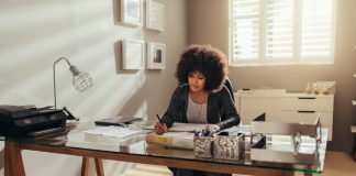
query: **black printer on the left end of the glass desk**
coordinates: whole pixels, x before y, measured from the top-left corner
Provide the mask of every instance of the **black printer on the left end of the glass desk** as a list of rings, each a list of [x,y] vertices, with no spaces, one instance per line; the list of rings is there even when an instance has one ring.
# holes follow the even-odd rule
[[[67,118],[63,109],[0,106],[0,136],[34,136],[64,131]]]

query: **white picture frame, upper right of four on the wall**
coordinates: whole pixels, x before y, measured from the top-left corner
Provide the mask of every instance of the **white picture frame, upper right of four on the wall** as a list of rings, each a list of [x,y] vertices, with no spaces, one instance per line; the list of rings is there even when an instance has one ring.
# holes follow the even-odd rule
[[[165,6],[155,0],[146,1],[146,28],[165,31]]]

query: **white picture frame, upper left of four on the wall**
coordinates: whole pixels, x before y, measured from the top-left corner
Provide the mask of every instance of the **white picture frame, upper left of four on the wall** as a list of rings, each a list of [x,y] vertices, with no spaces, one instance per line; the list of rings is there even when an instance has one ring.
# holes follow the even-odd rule
[[[121,22],[143,25],[143,0],[121,0]]]

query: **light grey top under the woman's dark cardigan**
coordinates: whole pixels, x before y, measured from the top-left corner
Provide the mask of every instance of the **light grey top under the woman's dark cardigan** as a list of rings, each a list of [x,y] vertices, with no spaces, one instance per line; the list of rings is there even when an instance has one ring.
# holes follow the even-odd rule
[[[189,123],[208,123],[207,101],[204,103],[196,103],[189,96],[187,118]]]

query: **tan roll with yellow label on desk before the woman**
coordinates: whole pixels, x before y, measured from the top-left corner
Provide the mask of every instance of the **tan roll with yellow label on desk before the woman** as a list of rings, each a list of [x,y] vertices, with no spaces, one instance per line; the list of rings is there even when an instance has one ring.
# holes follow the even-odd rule
[[[155,132],[148,133],[145,140],[148,144],[159,144],[164,146],[181,147],[192,150],[194,133],[190,132],[166,132],[162,135]]]

